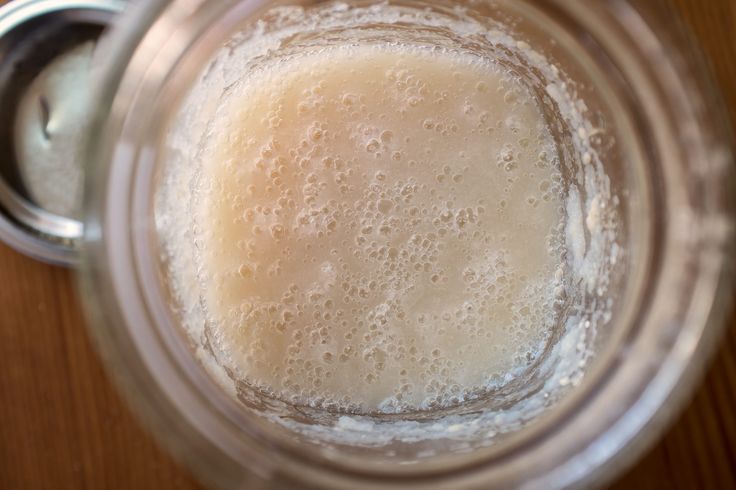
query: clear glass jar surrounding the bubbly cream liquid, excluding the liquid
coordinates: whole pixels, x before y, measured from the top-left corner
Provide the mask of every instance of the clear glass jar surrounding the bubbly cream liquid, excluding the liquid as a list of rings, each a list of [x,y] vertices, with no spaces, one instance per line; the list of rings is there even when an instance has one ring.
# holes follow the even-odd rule
[[[107,40],[82,284],[92,333],[151,430],[205,482],[228,488],[559,488],[602,484],[630,464],[691,393],[731,295],[726,119],[697,53],[658,6],[134,6]],[[396,15],[376,17],[387,9]],[[210,364],[183,325],[191,305],[171,288],[156,197],[182,151],[176,135],[201,136],[215,117],[217,103],[191,94],[218,72],[221,84],[204,92],[217,102],[242,75],[228,72],[229,57],[264,39],[273,43],[241,66],[390,39],[490,53],[528,82],[557,128],[556,158],[565,192],[579,193],[586,250],[605,259],[605,280],[580,286],[564,306],[545,351],[551,367],[540,361],[472,403],[359,416],[269,399]],[[593,211],[611,213],[600,240]]]

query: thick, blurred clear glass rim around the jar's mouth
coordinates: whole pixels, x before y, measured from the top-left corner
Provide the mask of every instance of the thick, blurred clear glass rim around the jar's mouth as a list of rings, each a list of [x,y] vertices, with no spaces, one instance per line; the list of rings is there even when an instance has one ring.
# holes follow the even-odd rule
[[[666,56],[652,64],[653,54],[664,49],[661,41],[620,2],[574,9],[562,2],[509,6],[524,21],[544,26],[537,37],[551,36],[557,49],[572,54],[574,63],[565,73],[585,80],[576,87],[581,97],[601,99],[593,111],[596,123],[620,139],[609,150],[621,165],[606,168],[623,182],[614,189],[621,192],[625,215],[625,230],[618,231],[626,237],[618,256],[626,263],[612,279],[623,285],[612,300],[617,310],[609,313],[611,323],[603,324],[610,331],[590,341],[595,360],[579,386],[552,409],[491,447],[390,465],[386,458],[371,460],[324,440],[307,449],[294,433],[274,430],[268,421],[245,413],[192,362],[191,340],[181,335],[172,315],[159,256],[152,252],[161,137],[152,129],[166,127],[168,117],[155,109],[178,107],[185,84],[177,80],[193,79],[202,60],[210,59],[212,46],[221,41],[216,31],[232,32],[268,5],[244,2],[225,13],[222,6],[188,12],[173,4],[158,19],[148,18],[148,33],[127,39],[127,69],[111,76],[108,120],[100,138],[93,138],[105,165],[88,187],[83,277],[99,300],[91,308],[98,308],[98,319],[108,319],[96,322],[93,333],[113,362],[124,367],[124,382],[137,392],[133,402],[144,406],[154,430],[168,432],[164,442],[179,445],[187,459],[201,458],[202,466],[210,466],[202,469],[205,478],[220,484],[251,474],[326,487],[452,480],[473,488],[489,482],[561,487],[590,481],[604,464],[620,460],[640,431],[646,434],[639,440],[651,440],[651,420],[661,419],[666,400],[685,396],[725,310],[732,208],[724,176],[730,173],[730,153],[726,140],[703,119],[702,101],[696,100],[703,93],[691,85],[697,80]],[[624,19],[640,23],[624,24]],[[647,39],[648,50],[640,49],[634,36]],[[151,66],[157,70],[148,70]],[[677,97],[680,103],[671,104]],[[582,158],[579,149],[571,152]],[[705,170],[695,168],[702,162],[707,162]],[[703,188],[709,192],[698,192]],[[112,332],[113,324],[124,328]],[[273,400],[256,401],[274,409]],[[311,415],[304,409],[289,414],[299,416],[308,420]]]

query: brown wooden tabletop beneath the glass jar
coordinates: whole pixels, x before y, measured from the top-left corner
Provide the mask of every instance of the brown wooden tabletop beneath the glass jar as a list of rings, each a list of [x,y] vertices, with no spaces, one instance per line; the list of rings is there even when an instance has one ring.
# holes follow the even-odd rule
[[[736,120],[736,0],[673,0]],[[2,3],[2,1],[0,1]],[[0,245],[0,489],[194,489],[106,378],[71,276]],[[736,320],[707,378],[616,489],[736,488]]]

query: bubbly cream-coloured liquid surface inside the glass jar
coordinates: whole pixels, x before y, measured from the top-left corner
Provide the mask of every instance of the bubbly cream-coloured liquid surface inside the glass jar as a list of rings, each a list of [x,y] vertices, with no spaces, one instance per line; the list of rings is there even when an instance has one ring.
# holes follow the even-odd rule
[[[560,285],[559,174],[491,62],[335,48],[233,89],[194,220],[218,361],[282,399],[430,408],[539,355]]]

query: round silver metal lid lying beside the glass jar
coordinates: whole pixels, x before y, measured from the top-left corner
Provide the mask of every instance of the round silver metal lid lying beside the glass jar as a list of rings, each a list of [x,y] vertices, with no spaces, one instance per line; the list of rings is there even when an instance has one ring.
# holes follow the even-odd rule
[[[23,146],[19,141],[25,140],[17,136],[24,100],[31,97],[26,97],[26,92],[60,55],[85,42],[96,41],[124,5],[122,0],[14,0],[0,7],[0,113],[5,116],[0,118],[0,240],[38,260],[72,266],[79,259],[83,234],[80,213],[71,212],[69,205],[62,206],[62,212],[49,209],[48,201],[39,199],[39,192],[51,189],[62,197],[64,193],[75,192],[64,186],[78,187],[76,181],[72,186],[54,172],[44,172],[53,165],[72,165],[82,172],[81,161],[77,161],[81,159],[80,152],[68,148],[58,151],[58,147],[66,144],[68,136],[77,128],[79,132],[86,128],[56,118],[57,126],[62,128],[57,136],[60,143],[53,146],[44,126],[43,134],[48,141],[39,145],[48,143],[43,147],[48,155],[33,155],[33,147],[30,149],[37,160],[46,159],[43,167],[35,170],[36,181],[46,181],[41,182],[45,185],[35,185],[32,189],[23,169],[28,162],[19,156],[24,153],[28,156],[29,150],[19,148]],[[62,102],[64,97],[61,96]],[[38,97],[38,118],[48,123],[54,117],[53,102],[49,103],[43,94]],[[74,161],[64,161],[70,159]]]

